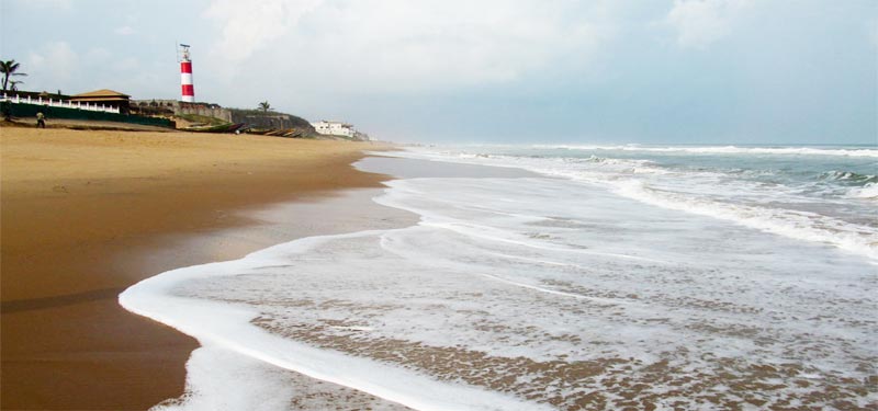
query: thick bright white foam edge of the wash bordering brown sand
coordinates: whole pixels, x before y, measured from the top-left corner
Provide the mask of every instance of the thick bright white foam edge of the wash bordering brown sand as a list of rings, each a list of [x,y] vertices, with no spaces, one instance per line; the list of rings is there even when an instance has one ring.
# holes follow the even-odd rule
[[[476,387],[440,383],[426,375],[372,359],[313,347],[271,334],[250,323],[259,312],[240,305],[171,295],[181,283],[234,276],[247,267],[266,266],[273,253],[297,253],[331,239],[379,236],[393,230],[313,237],[275,246],[244,259],[173,270],[144,279],[119,296],[134,313],[151,318],[199,340],[308,377],[349,387],[416,410],[539,410],[550,409]],[[251,260],[263,259],[255,263]]]

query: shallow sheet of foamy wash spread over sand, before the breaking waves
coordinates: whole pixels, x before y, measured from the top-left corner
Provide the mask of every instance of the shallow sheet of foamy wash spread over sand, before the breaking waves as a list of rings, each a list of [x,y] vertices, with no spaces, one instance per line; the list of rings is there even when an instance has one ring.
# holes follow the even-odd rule
[[[415,409],[878,398],[867,259],[575,180],[406,179],[375,201],[420,221],[181,269],[120,301],[209,350]]]

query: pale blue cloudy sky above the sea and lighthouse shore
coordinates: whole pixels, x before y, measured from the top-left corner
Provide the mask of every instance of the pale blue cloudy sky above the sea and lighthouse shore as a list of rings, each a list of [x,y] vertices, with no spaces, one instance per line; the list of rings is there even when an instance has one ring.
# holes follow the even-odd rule
[[[878,0],[0,0],[22,90],[415,142],[878,145]]]

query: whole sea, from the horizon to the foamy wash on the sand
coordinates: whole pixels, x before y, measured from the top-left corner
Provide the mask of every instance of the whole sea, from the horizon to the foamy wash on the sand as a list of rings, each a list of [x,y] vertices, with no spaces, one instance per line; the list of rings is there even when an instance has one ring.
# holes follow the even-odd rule
[[[878,409],[875,147],[382,156],[358,167],[420,164],[373,199],[417,225],[120,296],[204,346],[159,409],[299,409],[272,369],[398,404],[375,409]],[[527,173],[417,171],[439,163]]]

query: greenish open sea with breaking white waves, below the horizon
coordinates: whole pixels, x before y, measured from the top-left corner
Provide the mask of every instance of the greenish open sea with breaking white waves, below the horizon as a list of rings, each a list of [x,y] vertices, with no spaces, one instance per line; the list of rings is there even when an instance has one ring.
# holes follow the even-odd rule
[[[875,175],[831,170],[813,172],[813,179],[810,181],[784,181],[784,178],[773,170],[777,167],[797,167],[803,163],[801,160],[793,162],[783,160],[788,155],[870,158],[875,157],[873,155],[878,153],[878,150],[733,146],[539,147],[549,151],[522,149],[510,151],[485,147],[480,149],[479,153],[473,153],[469,149],[410,148],[385,155],[430,161],[521,168],[548,176],[597,184],[619,195],[660,207],[724,219],[798,240],[832,244],[878,261],[878,209],[875,208],[874,202],[878,195],[876,195]],[[554,151],[559,148],[583,152],[581,157],[565,157],[564,153]],[[650,158],[650,153],[654,152],[661,153],[660,157]],[[674,157],[664,157],[667,152]],[[637,153],[643,153],[642,157],[648,158],[638,158]],[[687,157],[690,153],[711,156],[699,158],[693,165],[686,165],[685,161],[690,158]],[[762,155],[775,157],[765,158]],[[780,156],[781,160],[777,160],[776,156]],[[825,161],[822,160],[824,158],[818,157],[818,160],[812,161]],[[677,165],[666,167],[658,161],[673,162]],[[679,164],[680,162],[684,163]],[[714,162],[733,165],[714,167]],[[860,167],[874,169],[869,163]],[[796,170],[788,172],[797,178],[807,173]],[[849,203],[847,199],[867,203]],[[871,224],[868,222],[869,219]]]

